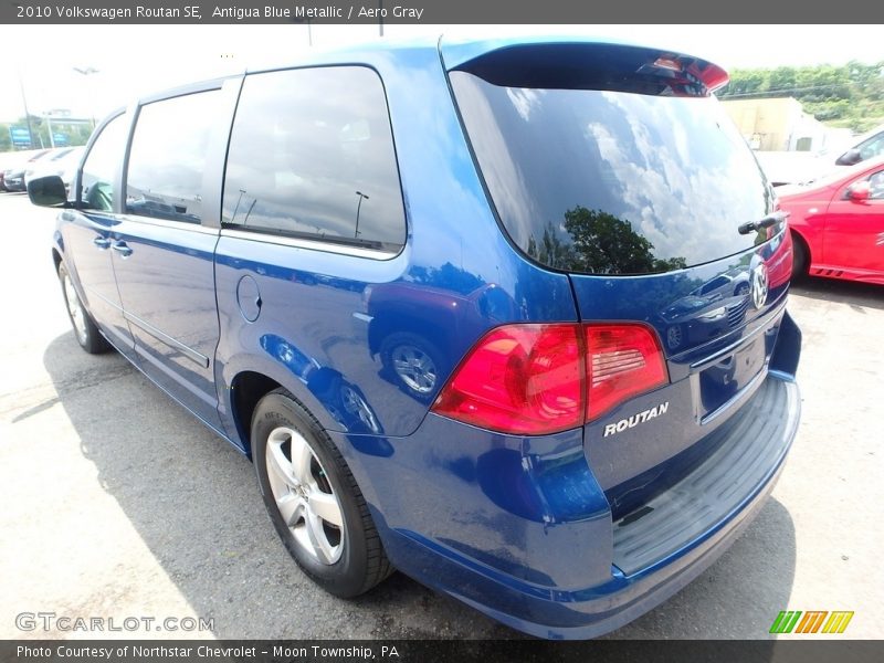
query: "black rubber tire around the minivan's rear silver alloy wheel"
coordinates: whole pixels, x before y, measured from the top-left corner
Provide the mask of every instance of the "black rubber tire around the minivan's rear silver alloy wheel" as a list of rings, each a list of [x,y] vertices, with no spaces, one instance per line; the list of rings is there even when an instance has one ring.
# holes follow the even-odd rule
[[[283,519],[277,506],[269,475],[267,454],[272,444],[271,435],[278,435],[278,431],[286,430],[298,434],[299,443],[306,442],[314,460],[318,462],[317,465],[312,465],[316,467],[317,481],[323,482],[317,487],[337,497],[343,527],[339,528],[339,558],[332,562],[322,561],[305,549],[294,529]],[[270,519],[288,552],[314,582],[327,592],[347,599],[365,593],[393,571],[366,501],[347,463],[319,423],[285,389],[271,391],[259,401],[252,417],[251,439],[257,483]],[[290,442],[290,454],[291,444],[293,443]],[[284,449],[284,444],[281,449]],[[270,453],[273,454],[273,450]],[[305,518],[301,527],[306,525]],[[334,528],[332,530],[334,534]]]

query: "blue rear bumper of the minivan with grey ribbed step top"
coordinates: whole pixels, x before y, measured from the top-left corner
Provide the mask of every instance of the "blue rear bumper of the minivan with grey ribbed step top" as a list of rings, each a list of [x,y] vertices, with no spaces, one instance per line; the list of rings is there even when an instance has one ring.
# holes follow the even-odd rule
[[[512,439],[430,415],[392,443],[392,457],[360,465],[373,480],[360,484],[372,486],[385,547],[407,575],[526,633],[592,638],[654,608],[727,549],[772,490],[799,415],[797,385],[771,372],[713,433],[717,451],[625,523],[612,522],[569,433]]]

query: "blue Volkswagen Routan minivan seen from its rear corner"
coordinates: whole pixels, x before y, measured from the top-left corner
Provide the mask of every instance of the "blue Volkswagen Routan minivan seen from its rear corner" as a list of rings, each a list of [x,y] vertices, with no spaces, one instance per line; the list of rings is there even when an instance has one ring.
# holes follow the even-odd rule
[[[80,345],[252,459],[319,586],[590,638],[734,541],[798,427],[726,81],[589,39],[314,54],[143,97],[29,192]]]

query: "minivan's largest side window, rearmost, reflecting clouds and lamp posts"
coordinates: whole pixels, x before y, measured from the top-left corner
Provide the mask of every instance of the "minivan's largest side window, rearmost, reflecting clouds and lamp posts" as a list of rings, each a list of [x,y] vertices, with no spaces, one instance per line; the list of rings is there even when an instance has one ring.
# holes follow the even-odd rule
[[[339,66],[248,76],[230,139],[223,221],[397,252],[404,210],[378,75]]]

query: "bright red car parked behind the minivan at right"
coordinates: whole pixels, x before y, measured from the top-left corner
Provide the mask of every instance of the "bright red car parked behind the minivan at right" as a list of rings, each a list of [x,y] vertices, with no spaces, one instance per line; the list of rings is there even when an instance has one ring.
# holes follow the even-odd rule
[[[791,214],[793,275],[884,285],[884,158],[778,193]]]

